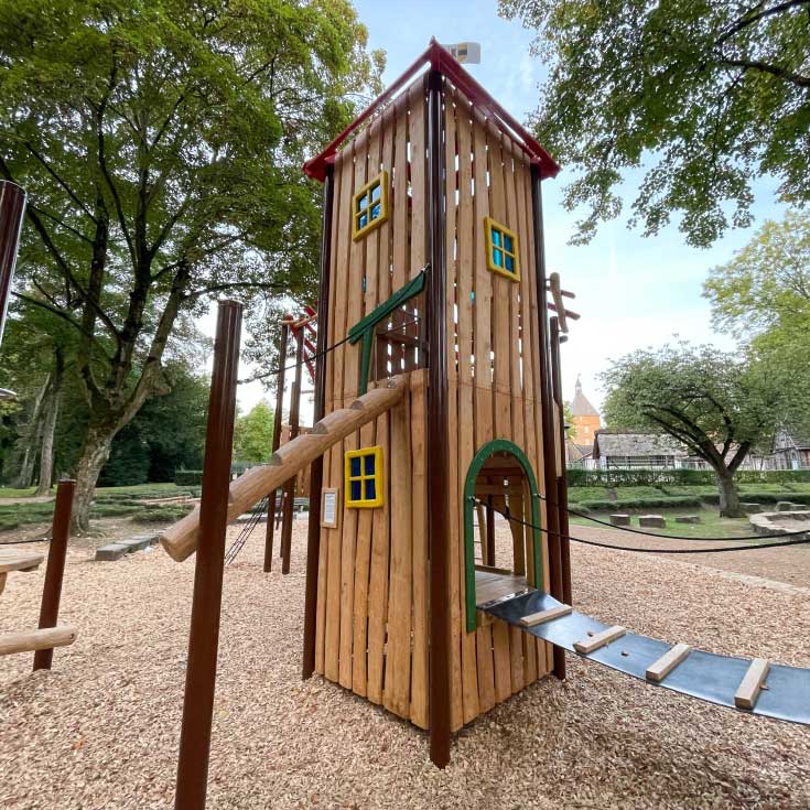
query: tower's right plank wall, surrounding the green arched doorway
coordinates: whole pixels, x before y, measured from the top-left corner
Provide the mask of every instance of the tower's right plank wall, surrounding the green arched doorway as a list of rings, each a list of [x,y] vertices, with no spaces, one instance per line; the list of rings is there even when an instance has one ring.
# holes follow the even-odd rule
[[[464,630],[462,493],[475,453],[509,439],[542,490],[537,289],[530,169],[522,152],[452,87],[445,91],[447,323],[453,559],[453,711],[458,728],[549,671],[547,645],[503,622]],[[518,235],[520,282],[487,269],[484,217]],[[528,505],[528,493],[523,501]],[[495,505],[498,507],[498,504]],[[501,504],[503,506],[503,504]],[[528,510],[527,510],[528,511]],[[522,539],[531,559],[532,538]],[[543,565],[548,582],[548,550]],[[530,576],[533,571],[529,571]]]

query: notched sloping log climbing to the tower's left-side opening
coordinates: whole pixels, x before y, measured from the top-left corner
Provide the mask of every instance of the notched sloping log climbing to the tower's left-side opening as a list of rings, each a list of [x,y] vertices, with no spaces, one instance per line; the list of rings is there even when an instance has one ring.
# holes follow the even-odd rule
[[[387,388],[375,388],[356,399],[348,408],[326,414],[312,429],[279,447],[270,463],[248,469],[230,485],[228,520],[234,521],[258,504],[300,469],[323,455],[333,444],[344,440],[367,422],[377,419],[402,400],[406,380],[393,377]],[[169,555],[182,562],[197,550],[199,507],[186,515],[161,536]]]

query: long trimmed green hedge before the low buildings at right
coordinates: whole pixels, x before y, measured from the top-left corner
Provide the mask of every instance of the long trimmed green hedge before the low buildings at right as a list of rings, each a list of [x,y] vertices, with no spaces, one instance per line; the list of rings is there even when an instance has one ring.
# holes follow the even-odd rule
[[[570,487],[587,486],[700,486],[716,484],[711,469],[568,469]],[[810,469],[741,469],[734,480],[737,484],[810,483]]]

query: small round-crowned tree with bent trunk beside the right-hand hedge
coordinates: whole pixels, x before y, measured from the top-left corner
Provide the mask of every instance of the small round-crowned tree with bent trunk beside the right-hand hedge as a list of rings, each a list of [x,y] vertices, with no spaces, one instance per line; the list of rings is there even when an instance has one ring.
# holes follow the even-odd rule
[[[766,364],[681,343],[634,352],[601,377],[608,426],[677,439],[714,471],[720,514],[742,515],[734,474],[753,449],[769,446],[788,407]]]

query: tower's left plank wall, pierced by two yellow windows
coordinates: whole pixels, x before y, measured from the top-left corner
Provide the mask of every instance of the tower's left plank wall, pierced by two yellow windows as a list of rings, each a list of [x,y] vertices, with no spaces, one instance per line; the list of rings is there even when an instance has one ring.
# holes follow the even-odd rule
[[[424,266],[425,125],[420,79],[336,158],[327,345],[344,338]],[[388,222],[355,242],[353,195],[381,169],[389,174]],[[408,333],[418,331],[412,325]],[[401,347],[392,345],[390,350],[389,368],[396,372],[408,360]],[[327,356],[327,413],[356,398],[359,360],[359,345],[345,344]],[[333,447],[324,460],[324,486],[339,487],[342,503],[344,452],[381,445],[385,506],[344,508],[336,529],[321,530],[315,629],[316,671],[423,728],[428,727],[425,380],[424,369],[410,371],[404,401]]]

